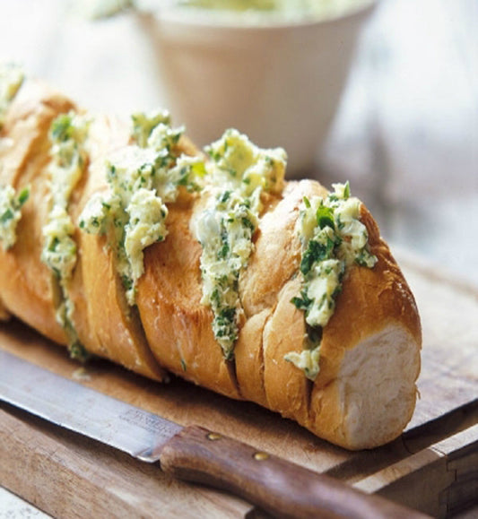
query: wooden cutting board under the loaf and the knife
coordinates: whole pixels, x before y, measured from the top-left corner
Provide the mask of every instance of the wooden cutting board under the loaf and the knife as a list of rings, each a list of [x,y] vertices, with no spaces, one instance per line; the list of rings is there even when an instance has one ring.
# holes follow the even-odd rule
[[[395,442],[350,453],[255,404],[173,379],[153,383],[106,361],[86,369],[18,322],[0,347],[83,385],[198,424],[434,516],[478,499],[478,289],[396,254],[422,316],[421,398]],[[1,376],[1,367],[0,367]],[[147,465],[2,404],[0,484],[60,517],[254,517],[236,497],[169,480]]]

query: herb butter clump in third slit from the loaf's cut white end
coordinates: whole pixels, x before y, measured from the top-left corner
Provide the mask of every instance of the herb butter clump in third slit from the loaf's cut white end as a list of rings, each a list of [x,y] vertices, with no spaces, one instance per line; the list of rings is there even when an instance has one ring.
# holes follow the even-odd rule
[[[93,195],[80,216],[80,228],[107,234],[117,255],[117,271],[129,305],[135,305],[136,283],[143,275],[143,250],[168,235],[166,203],[179,186],[200,188],[204,164],[177,156],[183,128],[172,128],[168,112],[132,117],[135,143],[113,153],[107,162],[109,193]]]

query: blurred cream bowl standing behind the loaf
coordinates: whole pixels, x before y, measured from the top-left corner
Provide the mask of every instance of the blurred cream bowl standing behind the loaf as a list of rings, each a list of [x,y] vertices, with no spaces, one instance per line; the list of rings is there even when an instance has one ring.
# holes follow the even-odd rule
[[[330,20],[287,22],[166,9],[150,23],[163,93],[177,124],[203,146],[226,128],[282,146],[288,176],[317,159],[375,3]]]

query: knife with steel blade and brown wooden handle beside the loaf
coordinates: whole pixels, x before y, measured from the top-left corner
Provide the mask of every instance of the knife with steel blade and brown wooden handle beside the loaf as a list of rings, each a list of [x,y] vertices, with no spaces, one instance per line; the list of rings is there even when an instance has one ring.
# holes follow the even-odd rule
[[[182,427],[0,350],[0,400],[274,516],[426,517],[205,428]]]

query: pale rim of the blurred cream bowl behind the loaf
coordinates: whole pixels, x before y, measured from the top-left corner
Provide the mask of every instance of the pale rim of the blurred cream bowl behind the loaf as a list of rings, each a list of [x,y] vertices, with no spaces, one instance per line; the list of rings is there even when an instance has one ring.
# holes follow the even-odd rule
[[[209,8],[180,6],[172,2],[153,13],[158,22],[174,23],[176,25],[207,29],[227,30],[274,30],[287,28],[313,27],[317,25],[334,24],[352,18],[368,15],[375,10],[380,0],[363,0],[342,13],[328,16],[298,16],[285,17],[264,13],[256,18],[243,14],[223,13]]]

